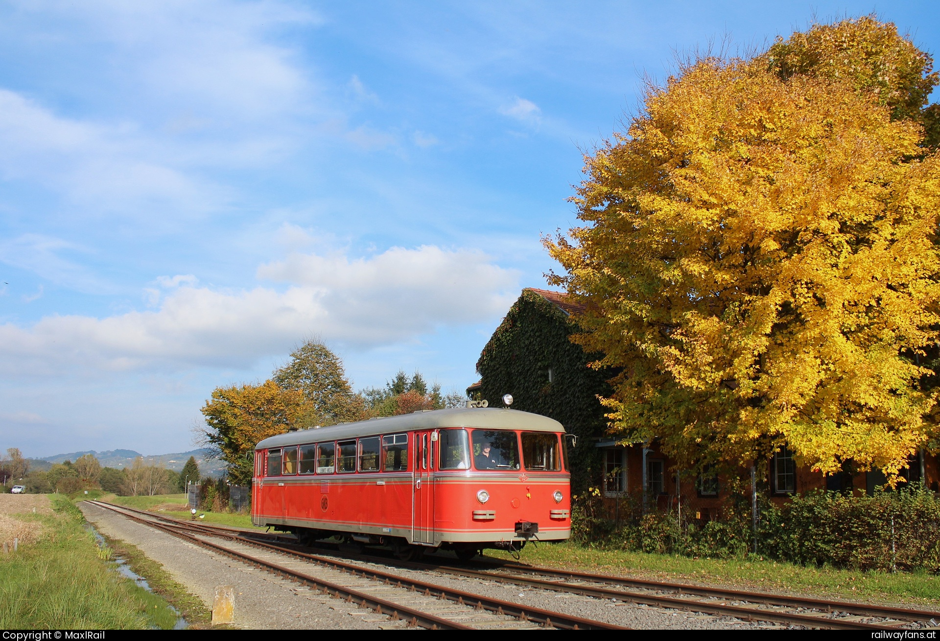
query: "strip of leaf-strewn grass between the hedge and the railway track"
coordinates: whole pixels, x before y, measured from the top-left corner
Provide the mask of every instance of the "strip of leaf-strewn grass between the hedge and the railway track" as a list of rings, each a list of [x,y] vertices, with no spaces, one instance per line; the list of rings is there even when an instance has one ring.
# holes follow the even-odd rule
[[[487,550],[487,556],[509,559]],[[927,573],[862,572],[764,561],[753,558],[696,559],[688,556],[587,548],[572,542],[526,546],[532,565],[619,574],[659,581],[726,585],[743,589],[812,594],[847,601],[907,603],[940,608],[940,576]]]

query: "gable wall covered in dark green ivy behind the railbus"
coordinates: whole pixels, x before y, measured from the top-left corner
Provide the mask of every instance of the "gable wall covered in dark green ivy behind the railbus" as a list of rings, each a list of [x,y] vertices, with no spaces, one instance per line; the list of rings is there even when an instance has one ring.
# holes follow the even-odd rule
[[[572,491],[597,484],[603,474],[593,437],[606,427],[597,395],[610,394],[610,374],[589,369],[593,359],[568,340],[577,330],[558,306],[525,289],[477,361],[480,397],[490,407],[502,407],[503,394],[510,393],[513,409],[549,416],[578,436],[577,447],[569,447]]]

